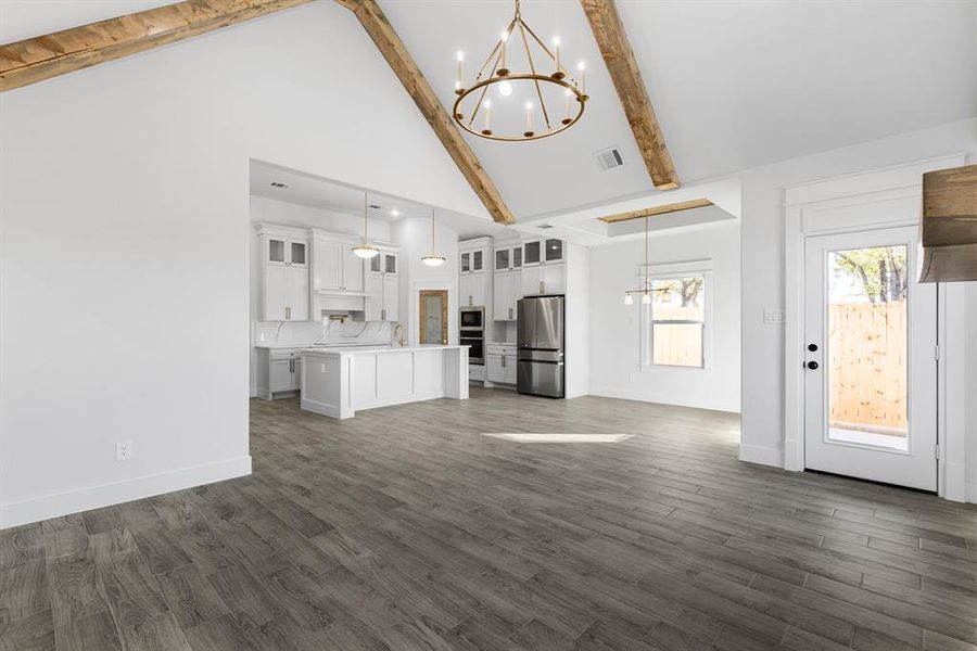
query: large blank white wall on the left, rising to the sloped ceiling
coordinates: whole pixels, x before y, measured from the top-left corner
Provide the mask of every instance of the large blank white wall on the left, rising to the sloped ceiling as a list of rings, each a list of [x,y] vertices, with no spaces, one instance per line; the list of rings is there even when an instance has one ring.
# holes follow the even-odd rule
[[[249,158],[484,215],[333,2],[3,93],[0,141],[0,526],[249,472]]]

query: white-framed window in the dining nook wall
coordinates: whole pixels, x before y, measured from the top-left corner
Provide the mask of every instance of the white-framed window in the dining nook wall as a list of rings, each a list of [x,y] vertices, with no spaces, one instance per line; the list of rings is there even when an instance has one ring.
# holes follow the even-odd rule
[[[706,367],[706,273],[651,277],[646,366]]]

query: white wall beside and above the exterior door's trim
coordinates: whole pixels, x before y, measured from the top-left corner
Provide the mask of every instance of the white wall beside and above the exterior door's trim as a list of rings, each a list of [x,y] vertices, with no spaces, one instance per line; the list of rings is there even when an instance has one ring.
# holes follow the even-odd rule
[[[764,309],[783,310],[785,305],[784,188],[959,152],[970,156],[977,153],[977,120],[903,133],[743,174],[743,286],[748,291],[743,294],[740,458],[771,465],[784,463],[784,328],[763,323]],[[974,292],[967,309],[977,315]],[[969,340],[977,340],[973,326]],[[968,374],[977,387],[977,365],[970,366]],[[968,470],[972,481],[977,476],[975,467],[977,463],[970,463]]]

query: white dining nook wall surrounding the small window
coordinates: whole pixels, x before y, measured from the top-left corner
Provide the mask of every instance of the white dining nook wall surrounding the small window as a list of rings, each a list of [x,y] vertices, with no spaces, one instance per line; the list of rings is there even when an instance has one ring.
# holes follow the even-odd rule
[[[624,305],[639,286],[644,241],[591,248],[591,393],[600,396],[739,411],[739,225],[652,233],[649,263],[709,259],[707,315],[711,356],[706,369],[640,368],[640,305]]]

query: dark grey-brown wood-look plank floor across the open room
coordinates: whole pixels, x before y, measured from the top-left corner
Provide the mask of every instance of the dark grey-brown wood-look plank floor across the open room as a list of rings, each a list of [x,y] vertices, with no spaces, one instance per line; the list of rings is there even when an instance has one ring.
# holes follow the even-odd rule
[[[977,509],[741,463],[729,414],[251,410],[252,476],[0,532],[0,650],[977,649]]]

